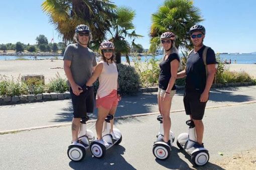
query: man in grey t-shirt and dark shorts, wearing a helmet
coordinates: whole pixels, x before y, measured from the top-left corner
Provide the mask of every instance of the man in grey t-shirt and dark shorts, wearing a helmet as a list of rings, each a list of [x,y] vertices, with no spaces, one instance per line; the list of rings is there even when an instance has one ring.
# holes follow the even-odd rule
[[[77,43],[67,46],[63,58],[74,110],[71,127],[73,143],[82,142],[78,140],[80,119],[93,112],[93,87],[85,85],[97,64],[94,52],[88,48],[91,38],[89,27],[83,24],[78,25],[74,34],[74,40]]]

